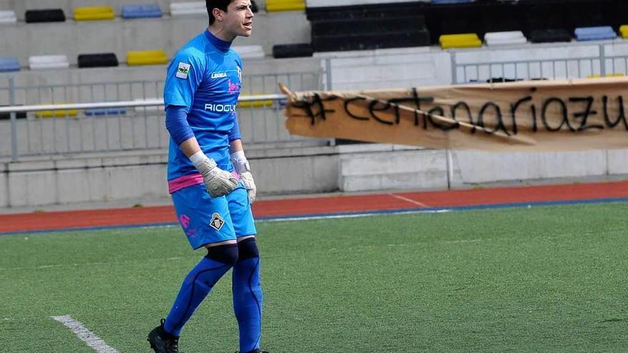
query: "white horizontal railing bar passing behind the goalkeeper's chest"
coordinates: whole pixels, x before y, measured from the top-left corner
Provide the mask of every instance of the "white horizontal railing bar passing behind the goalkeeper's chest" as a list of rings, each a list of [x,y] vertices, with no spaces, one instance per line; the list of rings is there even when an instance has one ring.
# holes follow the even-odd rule
[[[285,98],[287,98],[285,94],[260,94],[256,96],[241,96],[240,98],[238,98],[238,102],[280,101]],[[6,106],[0,107],[0,113],[24,113],[28,111],[59,111],[62,109],[96,109],[146,106],[163,106],[163,99],[144,99],[141,101],[118,101],[101,103],[44,104],[38,106]]]

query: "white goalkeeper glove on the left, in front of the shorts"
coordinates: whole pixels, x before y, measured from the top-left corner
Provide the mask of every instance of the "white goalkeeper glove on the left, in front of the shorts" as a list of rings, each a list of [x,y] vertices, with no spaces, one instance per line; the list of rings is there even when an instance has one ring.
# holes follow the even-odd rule
[[[203,183],[212,198],[227,195],[238,186],[238,179],[228,171],[218,168],[216,161],[208,158],[202,150],[194,153],[190,160],[203,175]]]

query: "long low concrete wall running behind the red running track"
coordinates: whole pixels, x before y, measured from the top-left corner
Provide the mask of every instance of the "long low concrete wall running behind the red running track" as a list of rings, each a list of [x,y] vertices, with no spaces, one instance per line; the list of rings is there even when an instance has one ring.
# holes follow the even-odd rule
[[[628,174],[628,150],[578,153],[453,152],[397,145],[253,148],[260,195],[468,188]],[[450,178],[449,176],[450,175]],[[166,152],[0,163],[0,207],[168,198]]]

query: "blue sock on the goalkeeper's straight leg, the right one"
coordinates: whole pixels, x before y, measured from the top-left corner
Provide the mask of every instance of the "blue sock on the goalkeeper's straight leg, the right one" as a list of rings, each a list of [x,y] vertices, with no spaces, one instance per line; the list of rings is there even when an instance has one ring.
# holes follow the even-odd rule
[[[262,324],[259,257],[239,260],[233,266],[233,312],[240,329],[240,352],[258,349]]]

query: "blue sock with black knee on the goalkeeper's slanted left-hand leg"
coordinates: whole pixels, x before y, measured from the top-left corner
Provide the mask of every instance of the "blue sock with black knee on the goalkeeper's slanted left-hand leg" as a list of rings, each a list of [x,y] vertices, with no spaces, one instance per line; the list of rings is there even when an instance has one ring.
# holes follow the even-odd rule
[[[216,282],[238,259],[237,245],[210,247],[208,255],[188,273],[176,297],[163,328],[174,336],[181,335],[181,328],[188,322],[198,305],[216,285]]]

